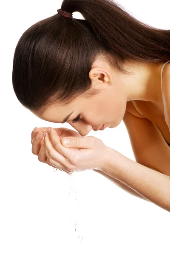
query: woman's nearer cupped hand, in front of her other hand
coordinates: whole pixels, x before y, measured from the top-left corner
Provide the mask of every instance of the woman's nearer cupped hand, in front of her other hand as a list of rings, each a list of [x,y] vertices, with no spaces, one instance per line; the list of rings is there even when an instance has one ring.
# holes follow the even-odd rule
[[[57,131],[59,131],[59,128]],[[77,136],[77,132],[76,136],[73,137],[68,135],[66,130],[61,134],[58,132],[57,135],[57,131],[50,127],[50,133],[48,134],[48,131],[46,131],[44,137],[47,163],[52,166],[58,166],[66,172],[76,172],[88,169],[103,170],[108,158],[108,147],[102,140],[99,140],[94,136]],[[60,140],[59,135],[62,139],[63,137],[69,137],[71,144],[64,145],[63,140]]]

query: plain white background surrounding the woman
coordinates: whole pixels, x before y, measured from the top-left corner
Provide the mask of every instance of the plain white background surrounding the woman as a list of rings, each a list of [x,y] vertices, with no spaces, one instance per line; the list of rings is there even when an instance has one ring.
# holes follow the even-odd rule
[[[117,2],[137,19],[170,29],[168,0]],[[31,153],[34,127],[74,129],[34,116],[17,100],[11,82],[14,49],[21,35],[32,24],[56,14],[61,3],[1,3],[0,255],[170,255],[169,212],[128,194],[92,170],[74,177],[54,172]],[[82,18],[77,12],[73,17]],[[114,129],[90,135],[135,160],[123,121]],[[81,242],[78,235],[83,237]]]

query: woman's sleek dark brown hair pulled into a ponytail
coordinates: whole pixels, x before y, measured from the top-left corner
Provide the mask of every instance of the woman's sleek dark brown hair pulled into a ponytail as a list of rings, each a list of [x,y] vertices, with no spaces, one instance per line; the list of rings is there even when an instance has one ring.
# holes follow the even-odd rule
[[[91,97],[89,72],[97,58],[120,73],[125,61],[170,60],[170,30],[136,20],[111,0],[64,0],[61,9],[85,20],[55,14],[38,21],[17,43],[12,71],[14,92],[30,111]],[[57,8],[56,8],[57,10]]]

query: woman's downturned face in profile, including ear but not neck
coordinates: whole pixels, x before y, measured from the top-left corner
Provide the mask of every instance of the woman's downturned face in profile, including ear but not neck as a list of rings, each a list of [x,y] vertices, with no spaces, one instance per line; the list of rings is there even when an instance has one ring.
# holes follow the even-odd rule
[[[35,112],[34,114],[48,122],[62,123],[65,117],[73,112],[66,122],[81,136],[86,136],[92,129],[99,130],[102,125],[105,125],[105,128],[118,126],[126,110],[125,90],[119,76],[115,74],[113,79],[109,66],[106,68],[94,67],[89,73],[92,87],[103,89],[99,94],[91,98],[79,96],[68,105],[53,105],[42,115]],[[80,120],[76,122],[78,116]]]

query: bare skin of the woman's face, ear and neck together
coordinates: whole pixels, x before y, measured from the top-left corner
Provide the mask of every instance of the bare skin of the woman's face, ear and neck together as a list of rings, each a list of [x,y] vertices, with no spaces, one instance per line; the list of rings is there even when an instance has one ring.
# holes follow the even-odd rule
[[[150,101],[161,106],[161,67],[165,61],[156,63],[125,63],[130,74],[121,74],[111,69],[110,65],[98,58],[89,72],[93,88],[104,88],[89,99],[77,97],[68,105],[51,105],[43,114],[32,112],[48,122],[61,123],[70,114],[68,123],[81,136],[86,136],[92,129],[114,128],[122,121],[127,102],[131,100]],[[93,111],[91,111],[93,110]],[[80,114],[80,122],[72,123]]]

